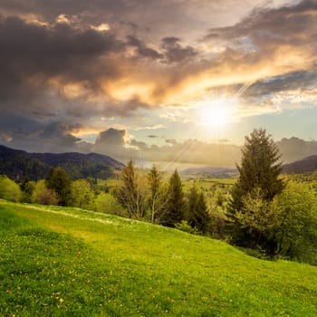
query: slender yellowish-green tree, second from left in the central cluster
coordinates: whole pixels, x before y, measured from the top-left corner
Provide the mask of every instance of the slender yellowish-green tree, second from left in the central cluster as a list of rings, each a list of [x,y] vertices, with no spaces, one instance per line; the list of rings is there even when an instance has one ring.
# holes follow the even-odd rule
[[[158,168],[154,165],[149,170],[149,211],[150,222],[158,223],[161,216],[166,212],[168,204],[168,187],[162,183]]]

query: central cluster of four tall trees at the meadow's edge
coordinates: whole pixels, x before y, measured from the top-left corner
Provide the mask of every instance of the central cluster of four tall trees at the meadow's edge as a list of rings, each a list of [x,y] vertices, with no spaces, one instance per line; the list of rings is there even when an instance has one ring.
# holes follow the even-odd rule
[[[201,234],[210,231],[211,218],[204,194],[194,184],[186,195],[177,169],[164,181],[156,166],[143,175],[136,173],[130,160],[123,168],[121,185],[112,193],[130,218]]]

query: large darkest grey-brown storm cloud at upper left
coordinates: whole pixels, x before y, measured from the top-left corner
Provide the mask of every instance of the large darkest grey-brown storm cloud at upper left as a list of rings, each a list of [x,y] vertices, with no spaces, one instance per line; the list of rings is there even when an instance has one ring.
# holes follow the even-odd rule
[[[64,81],[83,81],[100,76],[96,60],[120,52],[122,43],[113,34],[76,30],[67,24],[53,27],[27,24],[17,17],[0,20],[0,100],[36,94],[48,79],[62,76]],[[103,74],[116,77],[113,63],[104,65]],[[28,93],[30,88],[34,88]]]

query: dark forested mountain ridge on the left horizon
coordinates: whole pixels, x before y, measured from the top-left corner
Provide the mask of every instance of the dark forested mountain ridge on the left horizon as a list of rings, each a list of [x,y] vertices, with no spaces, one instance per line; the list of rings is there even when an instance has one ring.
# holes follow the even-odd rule
[[[14,180],[25,177],[32,180],[44,178],[51,168],[60,166],[72,179],[109,178],[113,170],[124,167],[116,159],[97,153],[28,153],[0,145],[0,174]]]

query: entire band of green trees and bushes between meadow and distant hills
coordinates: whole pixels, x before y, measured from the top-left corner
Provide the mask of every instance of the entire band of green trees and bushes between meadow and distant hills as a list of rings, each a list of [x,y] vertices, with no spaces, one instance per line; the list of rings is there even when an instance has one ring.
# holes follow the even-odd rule
[[[20,185],[0,176],[0,197],[114,213],[225,239],[261,256],[317,264],[317,189],[283,176],[280,159],[274,140],[260,129],[245,137],[230,191],[204,192],[195,182],[185,191],[178,170],[167,178],[156,166],[145,171],[130,160],[110,190],[98,189],[94,178],[72,181],[52,168],[45,179]]]

